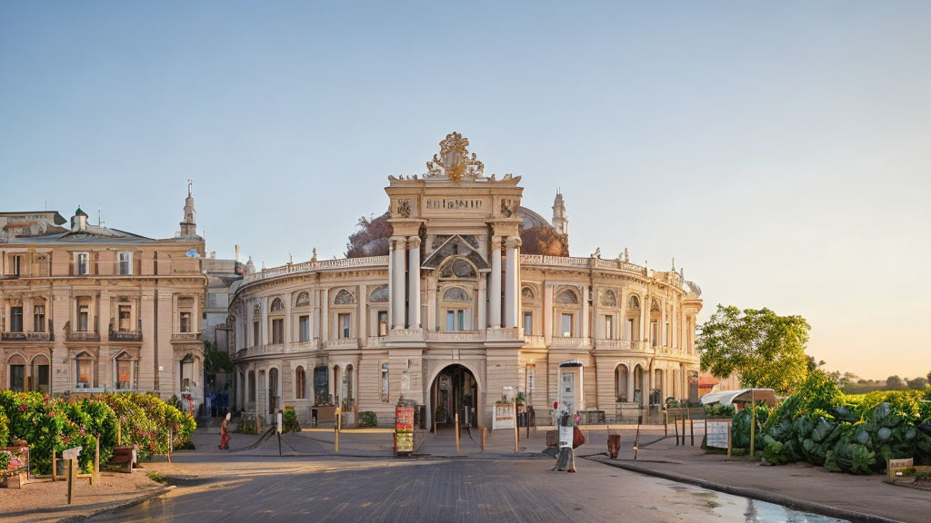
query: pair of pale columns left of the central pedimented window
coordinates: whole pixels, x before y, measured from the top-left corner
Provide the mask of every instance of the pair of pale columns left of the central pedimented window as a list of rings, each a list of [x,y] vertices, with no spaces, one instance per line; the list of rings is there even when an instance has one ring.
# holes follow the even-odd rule
[[[392,329],[420,329],[420,237],[391,236],[388,322]],[[405,271],[405,251],[407,271]],[[405,289],[405,274],[409,275]],[[410,302],[406,303],[409,299]],[[406,309],[405,309],[406,307]],[[406,320],[406,323],[405,323]]]

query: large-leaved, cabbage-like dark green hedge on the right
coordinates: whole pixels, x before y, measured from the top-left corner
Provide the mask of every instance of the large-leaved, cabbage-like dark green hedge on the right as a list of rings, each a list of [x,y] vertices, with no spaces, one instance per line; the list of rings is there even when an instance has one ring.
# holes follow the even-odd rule
[[[918,425],[931,419],[925,391],[877,391],[844,395],[830,378],[813,372],[763,427],[767,463],[807,462],[834,472],[871,474],[886,460],[931,463],[931,436]]]

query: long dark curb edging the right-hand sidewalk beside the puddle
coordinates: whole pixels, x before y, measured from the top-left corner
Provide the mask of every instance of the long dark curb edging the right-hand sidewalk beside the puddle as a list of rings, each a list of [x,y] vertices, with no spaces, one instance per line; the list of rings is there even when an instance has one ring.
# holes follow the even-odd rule
[[[714,481],[708,481],[707,479],[700,479],[692,476],[682,476],[680,474],[658,471],[651,469],[650,467],[643,467],[638,465],[633,465],[630,463],[624,462],[614,462],[611,460],[601,460],[595,459],[594,457],[584,456],[585,459],[591,462],[603,463],[620,469],[624,469],[630,472],[635,472],[642,474],[644,476],[655,476],[661,477],[663,479],[668,479],[670,481],[678,481],[680,483],[688,483],[690,485],[695,485],[697,487],[702,487],[704,489],[718,490],[719,492],[724,492],[725,494],[733,494],[735,496],[742,496],[745,498],[752,498],[754,500],[759,500],[767,503],[776,503],[784,506],[788,506],[793,510],[800,510],[803,512],[811,512],[813,514],[818,514],[820,516],[829,516],[836,517],[838,519],[846,519],[853,523],[900,523],[897,519],[889,519],[888,517],[883,516],[873,516],[871,514],[863,514],[861,512],[855,512],[852,510],[846,510],[843,508],[836,508],[826,504],[809,502],[805,500],[800,500],[798,498],[792,498],[784,494],[778,494],[775,492],[768,492],[765,490],[757,489],[747,489],[745,487],[734,487],[731,485],[725,485],[723,483],[716,483]]]

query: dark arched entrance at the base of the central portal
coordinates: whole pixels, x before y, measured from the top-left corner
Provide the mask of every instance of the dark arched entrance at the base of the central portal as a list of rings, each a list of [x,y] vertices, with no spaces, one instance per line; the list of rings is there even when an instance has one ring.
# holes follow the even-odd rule
[[[430,385],[430,405],[437,426],[452,426],[455,414],[463,426],[479,425],[479,382],[472,371],[453,364],[442,369]]]

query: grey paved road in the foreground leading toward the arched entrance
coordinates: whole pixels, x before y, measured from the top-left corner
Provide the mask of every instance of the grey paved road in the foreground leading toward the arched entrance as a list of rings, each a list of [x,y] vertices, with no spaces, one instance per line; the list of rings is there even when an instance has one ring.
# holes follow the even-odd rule
[[[208,482],[92,521],[832,521],[600,463],[324,460],[218,464]],[[208,465],[209,466],[209,465]],[[203,479],[202,479],[203,480]]]

